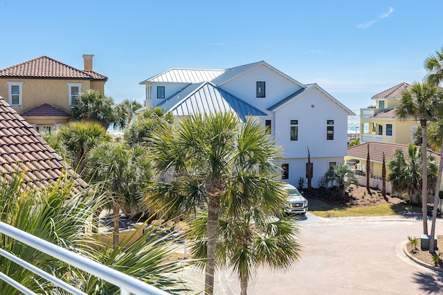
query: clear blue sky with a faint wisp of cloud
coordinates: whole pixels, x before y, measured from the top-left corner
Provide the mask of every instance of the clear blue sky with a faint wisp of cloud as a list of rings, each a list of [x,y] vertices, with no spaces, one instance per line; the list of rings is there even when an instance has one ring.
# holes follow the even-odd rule
[[[138,83],[169,68],[264,60],[317,83],[348,108],[424,77],[443,46],[443,1],[0,0],[0,68],[47,55],[93,69],[116,102],[143,102]]]

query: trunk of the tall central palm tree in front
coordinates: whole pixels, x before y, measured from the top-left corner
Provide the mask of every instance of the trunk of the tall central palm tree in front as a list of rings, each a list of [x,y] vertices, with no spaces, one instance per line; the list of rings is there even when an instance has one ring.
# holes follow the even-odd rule
[[[208,234],[208,250],[205,269],[206,295],[212,295],[214,292],[215,247],[217,246],[217,236],[219,234],[220,195],[221,193],[209,193],[208,200],[208,225],[206,229]]]

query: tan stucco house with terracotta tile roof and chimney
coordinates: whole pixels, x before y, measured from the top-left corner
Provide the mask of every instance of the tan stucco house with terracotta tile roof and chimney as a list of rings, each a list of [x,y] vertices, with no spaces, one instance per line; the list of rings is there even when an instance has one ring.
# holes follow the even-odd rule
[[[37,57],[0,70],[0,96],[42,134],[69,122],[82,91],[105,90],[107,77],[92,70],[93,55],[83,55],[84,70]]]

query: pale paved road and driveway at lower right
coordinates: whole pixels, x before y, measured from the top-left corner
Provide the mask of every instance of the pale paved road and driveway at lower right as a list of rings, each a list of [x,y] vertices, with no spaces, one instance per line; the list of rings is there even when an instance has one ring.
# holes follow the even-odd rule
[[[257,269],[249,295],[443,294],[442,274],[403,254],[407,237],[422,233],[421,218],[325,219],[307,213],[297,224],[304,248],[300,262],[284,273]],[[442,231],[439,221],[437,234]],[[199,280],[199,274],[192,276]],[[229,272],[217,274],[215,288],[219,295],[239,294],[238,280]]]

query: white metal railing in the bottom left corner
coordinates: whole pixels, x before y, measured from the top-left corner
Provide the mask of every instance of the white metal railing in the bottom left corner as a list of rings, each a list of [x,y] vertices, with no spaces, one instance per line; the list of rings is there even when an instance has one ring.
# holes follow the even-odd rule
[[[49,256],[62,260],[64,263],[69,263],[69,265],[77,267],[78,269],[82,269],[84,272],[89,272],[89,274],[92,274],[93,276],[97,276],[102,280],[106,280],[107,282],[120,287],[120,294],[122,295],[168,294],[167,292],[164,292],[163,290],[153,287],[151,285],[148,285],[147,283],[144,283],[141,280],[138,280],[132,276],[128,276],[127,274],[123,274],[122,272],[118,272],[116,269],[111,269],[110,267],[107,267],[105,265],[101,265],[96,261],[90,260],[89,258],[85,258],[79,254],[63,249],[62,247],[58,247],[57,245],[53,245],[51,242],[42,240],[41,238],[37,238],[36,236],[28,234],[25,231],[21,231],[20,229],[16,229],[15,227],[7,225],[4,222],[0,222],[0,233],[6,234],[7,236],[10,236],[11,238],[18,240],[19,242],[23,242],[24,244],[30,247],[42,251],[45,254],[48,254]],[[26,261],[21,260],[17,256],[14,256],[13,254],[8,253],[7,251],[1,250],[0,255],[5,256],[6,258],[14,261],[15,263],[21,265],[22,267],[25,267],[26,269],[29,269],[31,272],[34,272],[35,274],[42,276],[42,278],[51,281],[57,287],[65,289],[66,291],[71,292],[72,294],[85,294],[84,292],[80,291],[79,289],[76,289],[72,285],[69,285],[64,281],[55,278],[51,274],[47,274],[41,269],[38,269],[37,267],[30,265]],[[17,283],[15,280],[12,280],[11,278],[9,278],[4,274],[1,274],[1,272],[0,272],[0,279],[4,280],[6,283],[9,283],[16,289],[19,289],[19,291],[23,292],[24,294],[35,294],[29,289],[27,289],[25,286],[22,286],[19,283]]]

